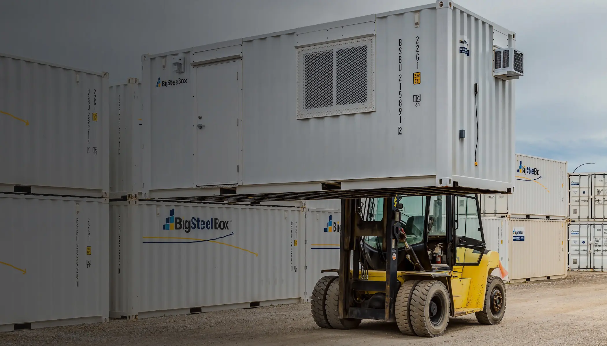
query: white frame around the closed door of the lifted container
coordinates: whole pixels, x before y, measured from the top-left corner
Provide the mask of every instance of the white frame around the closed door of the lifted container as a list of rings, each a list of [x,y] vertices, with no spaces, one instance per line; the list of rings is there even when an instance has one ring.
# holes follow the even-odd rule
[[[194,58],[194,53],[192,53],[192,58]],[[213,61],[212,63],[206,63],[206,64],[193,64],[192,63],[192,69],[191,69],[191,74],[190,74],[190,78],[192,80],[192,85],[191,85],[191,93],[192,93],[192,120],[194,121],[193,125],[192,125],[192,129],[194,129],[194,137],[196,138],[195,140],[195,158],[196,160],[198,160],[198,129],[196,128],[197,124],[198,124],[198,67],[207,67],[207,66],[212,66],[212,65],[219,65],[219,64],[225,64],[225,63],[232,63],[236,61],[238,63],[237,66],[237,73],[238,73],[238,178],[237,178],[237,185],[242,185],[243,184],[243,73],[242,73],[242,58],[229,58],[229,59],[225,59],[225,60],[219,60],[219,61]],[[198,162],[198,161],[196,161]],[[197,164],[198,165],[198,164]],[[194,174],[192,175],[192,180],[194,181],[193,185],[194,187],[225,187],[225,186],[236,186],[236,185],[212,185],[212,186],[208,186],[208,185],[198,185],[198,170],[196,169],[194,171]]]

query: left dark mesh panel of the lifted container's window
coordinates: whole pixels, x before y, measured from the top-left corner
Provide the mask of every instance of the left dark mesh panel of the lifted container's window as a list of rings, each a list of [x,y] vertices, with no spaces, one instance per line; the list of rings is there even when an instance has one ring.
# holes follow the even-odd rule
[[[304,55],[304,109],[333,106],[333,50]]]

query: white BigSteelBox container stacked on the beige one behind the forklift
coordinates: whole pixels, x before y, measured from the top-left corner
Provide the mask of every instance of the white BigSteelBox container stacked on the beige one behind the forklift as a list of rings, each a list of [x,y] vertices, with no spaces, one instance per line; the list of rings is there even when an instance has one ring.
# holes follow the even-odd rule
[[[512,217],[567,216],[567,163],[517,154],[514,194],[481,195],[483,215]]]

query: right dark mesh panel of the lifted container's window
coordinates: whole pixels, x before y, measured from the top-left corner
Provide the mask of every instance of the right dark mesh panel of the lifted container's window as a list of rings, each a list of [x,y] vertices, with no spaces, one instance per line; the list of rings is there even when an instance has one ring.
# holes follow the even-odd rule
[[[367,102],[367,46],[336,50],[336,104]]]

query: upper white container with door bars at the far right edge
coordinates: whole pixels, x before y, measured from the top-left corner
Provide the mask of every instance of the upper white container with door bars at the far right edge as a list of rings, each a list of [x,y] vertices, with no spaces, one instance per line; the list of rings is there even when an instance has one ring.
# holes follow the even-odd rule
[[[569,219],[607,222],[607,172],[569,174]]]

